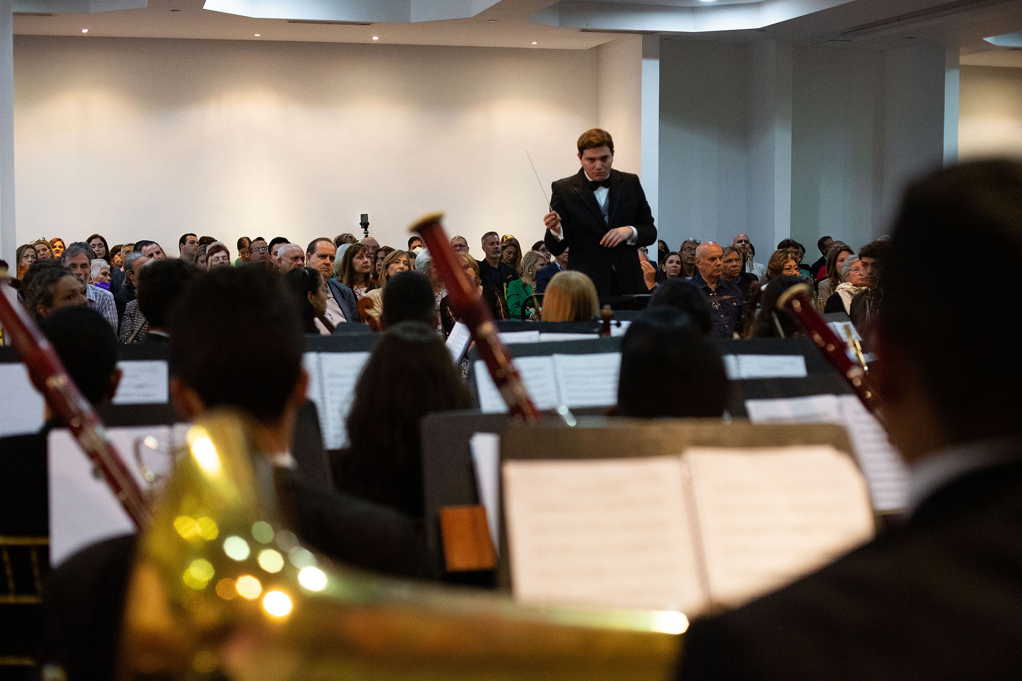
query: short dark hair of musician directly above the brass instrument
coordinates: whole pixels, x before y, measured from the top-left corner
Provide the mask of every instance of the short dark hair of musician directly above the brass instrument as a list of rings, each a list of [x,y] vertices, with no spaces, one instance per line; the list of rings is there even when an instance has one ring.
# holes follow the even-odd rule
[[[269,268],[221,267],[196,277],[170,316],[171,373],[206,407],[275,422],[301,371],[298,312]],[[252,358],[267,361],[253,370]]]

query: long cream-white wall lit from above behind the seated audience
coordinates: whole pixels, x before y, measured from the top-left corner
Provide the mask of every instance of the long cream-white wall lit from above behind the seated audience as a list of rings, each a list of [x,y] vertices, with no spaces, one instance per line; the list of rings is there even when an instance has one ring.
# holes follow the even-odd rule
[[[400,246],[444,210],[477,257],[490,230],[527,247],[546,205],[525,149],[549,192],[598,121],[596,50],[19,36],[14,61],[19,243],[176,253],[190,231],[233,256],[241,235],[305,244],[368,213]]]

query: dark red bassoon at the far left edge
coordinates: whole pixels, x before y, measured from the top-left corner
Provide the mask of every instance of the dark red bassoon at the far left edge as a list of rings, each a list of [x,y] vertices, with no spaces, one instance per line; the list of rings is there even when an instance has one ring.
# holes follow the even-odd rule
[[[141,487],[110,444],[96,411],[67,375],[53,346],[17,303],[14,290],[7,284],[0,284],[0,324],[7,332],[9,344],[28,367],[33,384],[71,429],[129,517],[136,527],[146,525],[149,504]]]

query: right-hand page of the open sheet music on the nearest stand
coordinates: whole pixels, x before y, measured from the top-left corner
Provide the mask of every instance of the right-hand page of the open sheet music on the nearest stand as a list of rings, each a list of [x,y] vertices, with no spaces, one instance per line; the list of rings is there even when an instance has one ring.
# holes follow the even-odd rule
[[[714,602],[738,605],[872,536],[866,482],[833,447],[691,448],[682,459]]]

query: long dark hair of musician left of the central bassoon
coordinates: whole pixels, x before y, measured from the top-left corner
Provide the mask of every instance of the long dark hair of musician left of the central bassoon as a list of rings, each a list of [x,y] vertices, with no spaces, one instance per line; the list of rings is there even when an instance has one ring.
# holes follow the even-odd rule
[[[422,517],[422,417],[468,407],[468,389],[435,328],[388,328],[355,387],[351,445],[334,465],[338,489]]]

